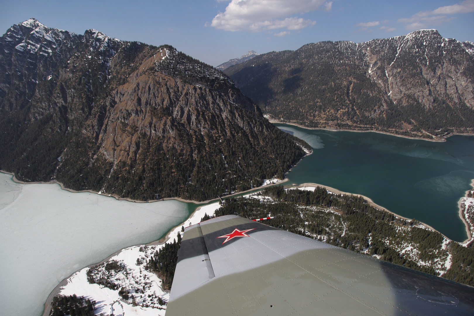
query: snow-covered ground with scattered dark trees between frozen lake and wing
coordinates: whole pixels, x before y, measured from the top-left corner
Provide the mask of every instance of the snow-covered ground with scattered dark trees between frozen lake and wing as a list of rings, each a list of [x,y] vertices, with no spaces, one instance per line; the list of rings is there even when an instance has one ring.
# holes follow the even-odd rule
[[[197,224],[205,214],[212,216],[216,209],[220,207],[219,203],[212,203],[202,206],[196,210],[191,217],[176,226],[166,236],[166,243],[173,243],[177,239],[178,234],[182,234],[182,226],[187,227]],[[96,314],[104,313],[105,315],[114,316],[163,316],[166,311],[166,305],[159,305],[158,297],[165,303],[169,299],[169,293],[162,289],[162,280],[153,272],[145,270],[146,259],[155,251],[161,249],[164,244],[152,245],[136,245],[121,250],[118,254],[109,258],[107,262],[116,261],[122,264],[124,269],[117,273],[112,273],[110,281],[118,285],[117,290],[106,288],[99,284],[91,284],[87,280],[87,271],[90,268],[84,268],[74,273],[68,280],[67,284],[62,287],[59,294],[83,296],[85,298],[96,301]],[[137,264],[137,259],[140,264]],[[99,266],[99,274],[105,274],[106,271]],[[130,302],[125,301],[118,294],[119,289],[124,287],[129,293],[135,297],[137,306],[133,306]]]

